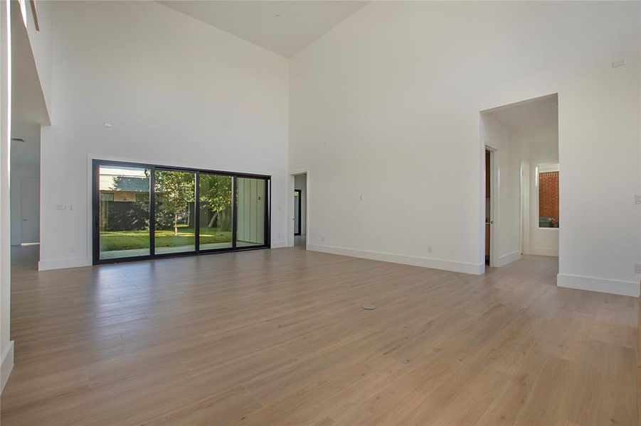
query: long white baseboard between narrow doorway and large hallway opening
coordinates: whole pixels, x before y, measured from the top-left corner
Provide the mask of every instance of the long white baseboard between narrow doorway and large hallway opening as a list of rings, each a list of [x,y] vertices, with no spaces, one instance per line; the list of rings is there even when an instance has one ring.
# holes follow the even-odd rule
[[[444,261],[441,259],[424,258],[418,256],[406,256],[394,253],[381,253],[379,251],[366,251],[346,249],[344,247],[321,246],[319,244],[307,244],[307,250],[322,251],[323,253],[340,254],[356,258],[371,259],[391,263],[402,263],[403,265],[423,266],[423,268],[443,269],[445,271],[471,273],[481,275],[484,272],[483,263],[465,263],[456,261]]]

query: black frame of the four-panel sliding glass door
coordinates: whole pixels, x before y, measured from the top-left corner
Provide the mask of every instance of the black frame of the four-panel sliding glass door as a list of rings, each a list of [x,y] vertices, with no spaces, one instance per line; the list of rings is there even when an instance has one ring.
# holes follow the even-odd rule
[[[131,167],[149,169],[149,255],[130,256],[123,258],[100,258],[100,166],[113,167]],[[194,238],[196,241],[193,251],[184,251],[179,253],[155,253],[155,232],[156,232],[156,200],[155,200],[155,171],[171,170],[178,172],[195,173],[196,188],[194,209]],[[220,249],[200,249],[200,175],[201,173],[209,175],[223,175],[232,178],[232,246],[222,247]],[[265,180],[265,242],[255,246],[237,246],[236,237],[238,230],[238,178],[262,179]],[[223,170],[208,170],[201,168],[177,167],[172,165],[157,165],[151,163],[133,163],[129,161],[115,160],[92,160],[92,262],[93,265],[105,265],[109,263],[148,261],[159,258],[173,258],[182,256],[200,256],[203,254],[227,253],[230,251],[248,251],[271,248],[271,206],[272,206],[272,177],[271,175],[258,175],[252,173],[237,173]]]

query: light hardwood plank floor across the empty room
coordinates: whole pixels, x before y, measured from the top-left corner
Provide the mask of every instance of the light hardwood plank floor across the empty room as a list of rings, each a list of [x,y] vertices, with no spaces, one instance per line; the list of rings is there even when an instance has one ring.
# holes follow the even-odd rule
[[[3,426],[637,425],[637,300],[557,288],[554,258],[16,256]]]

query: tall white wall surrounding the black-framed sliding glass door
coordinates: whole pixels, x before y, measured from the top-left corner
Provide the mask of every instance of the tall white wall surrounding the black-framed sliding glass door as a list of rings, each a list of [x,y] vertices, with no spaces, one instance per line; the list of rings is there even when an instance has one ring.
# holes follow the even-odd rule
[[[272,175],[284,246],[287,80],[280,55],[156,2],[53,2],[40,267],[91,263],[92,157]]]

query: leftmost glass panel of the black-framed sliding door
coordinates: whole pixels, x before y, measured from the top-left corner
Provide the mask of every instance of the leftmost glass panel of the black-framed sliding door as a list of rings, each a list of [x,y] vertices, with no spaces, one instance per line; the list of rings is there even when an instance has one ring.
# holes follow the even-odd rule
[[[101,165],[99,174],[100,259],[149,256],[149,169]]]

